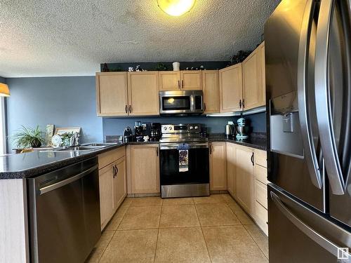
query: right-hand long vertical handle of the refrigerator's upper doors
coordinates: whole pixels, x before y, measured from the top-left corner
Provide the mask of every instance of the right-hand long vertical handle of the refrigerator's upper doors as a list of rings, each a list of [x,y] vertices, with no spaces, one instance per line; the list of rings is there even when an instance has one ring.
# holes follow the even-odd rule
[[[328,53],[334,5],[333,0],[321,1],[317,26],[314,83],[317,123],[329,184],[333,194],[343,195],[345,194],[345,182],[333,133],[333,113],[329,97]]]

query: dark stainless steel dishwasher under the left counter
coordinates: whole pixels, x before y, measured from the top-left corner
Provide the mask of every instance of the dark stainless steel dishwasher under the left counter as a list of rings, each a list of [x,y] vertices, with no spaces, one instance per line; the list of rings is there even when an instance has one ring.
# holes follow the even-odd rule
[[[84,262],[98,242],[96,157],[28,179],[31,262]]]

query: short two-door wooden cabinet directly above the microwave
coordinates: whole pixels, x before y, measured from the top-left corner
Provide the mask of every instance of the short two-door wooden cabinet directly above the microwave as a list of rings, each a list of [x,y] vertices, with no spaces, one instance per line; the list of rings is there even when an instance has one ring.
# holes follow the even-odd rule
[[[159,72],[160,90],[201,90],[201,70],[180,72]]]

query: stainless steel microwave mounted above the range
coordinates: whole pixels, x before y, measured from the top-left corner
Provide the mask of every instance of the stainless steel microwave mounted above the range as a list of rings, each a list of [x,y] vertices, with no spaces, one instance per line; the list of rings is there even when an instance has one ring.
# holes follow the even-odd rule
[[[159,114],[194,115],[204,113],[202,90],[159,92]]]

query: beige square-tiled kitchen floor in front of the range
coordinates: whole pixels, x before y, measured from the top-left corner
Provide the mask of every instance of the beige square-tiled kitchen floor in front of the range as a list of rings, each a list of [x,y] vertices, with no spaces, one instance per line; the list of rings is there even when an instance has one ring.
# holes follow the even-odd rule
[[[268,262],[267,236],[228,194],[126,198],[87,262]]]

